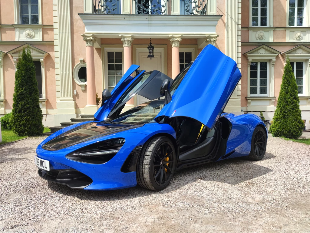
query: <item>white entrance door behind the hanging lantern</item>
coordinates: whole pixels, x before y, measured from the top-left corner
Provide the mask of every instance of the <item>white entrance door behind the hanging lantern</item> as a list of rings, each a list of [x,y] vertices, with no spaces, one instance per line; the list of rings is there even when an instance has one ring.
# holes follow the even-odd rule
[[[152,60],[148,58],[147,48],[136,48],[136,63],[140,66],[140,70],[145,71],[160,71],[162,72],[162,57],[163,48],[154,49],[154,58]],[[158,90],[159,91],[159,90]],[[148,102],[147,98],[140,95],[136,95],[136,105]]]

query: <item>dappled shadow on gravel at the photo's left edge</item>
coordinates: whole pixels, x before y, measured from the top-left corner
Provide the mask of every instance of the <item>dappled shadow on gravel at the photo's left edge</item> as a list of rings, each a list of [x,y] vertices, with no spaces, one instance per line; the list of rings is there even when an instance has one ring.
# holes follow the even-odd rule
[[[9,145],[0,147],[0,163],[22,160],[25,159],[22,157],[24,153],[28,153],[29,151],[35,152],[35,149],[31,147],[12,148]]]

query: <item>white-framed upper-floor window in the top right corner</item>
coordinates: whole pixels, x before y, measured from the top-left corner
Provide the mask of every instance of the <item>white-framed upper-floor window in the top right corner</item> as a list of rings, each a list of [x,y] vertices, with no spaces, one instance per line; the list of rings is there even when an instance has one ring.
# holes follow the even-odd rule
[[[304,0],[289,0],[289,26],[303,26]]]

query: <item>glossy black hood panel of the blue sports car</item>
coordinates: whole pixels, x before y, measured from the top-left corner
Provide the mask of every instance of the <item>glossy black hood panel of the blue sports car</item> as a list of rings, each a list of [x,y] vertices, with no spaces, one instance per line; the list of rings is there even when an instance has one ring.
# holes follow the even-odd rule
[[[116,125],[116,124],[106,124],[102,122],[89,122],[73,129],[70,129],[55,138],[49,140],[42,145],[45,150],[60,150],[73,146],[85,141],[100,138],[103,136],[115,134],[125,130],[130,130],[143,126],[141,125]]]

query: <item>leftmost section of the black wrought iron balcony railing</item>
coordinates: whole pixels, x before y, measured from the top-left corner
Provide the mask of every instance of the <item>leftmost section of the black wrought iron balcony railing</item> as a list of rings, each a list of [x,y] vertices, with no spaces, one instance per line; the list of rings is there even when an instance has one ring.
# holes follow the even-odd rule
[[[95,14],[121,14],[121,0],[94,0]]]

